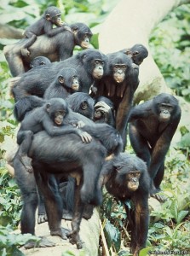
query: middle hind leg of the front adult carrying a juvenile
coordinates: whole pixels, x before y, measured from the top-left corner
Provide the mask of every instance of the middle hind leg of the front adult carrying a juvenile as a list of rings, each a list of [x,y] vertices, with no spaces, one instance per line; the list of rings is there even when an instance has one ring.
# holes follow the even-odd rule
[[[39,168],[43,169],[43,167]],[[51,236],[60,236],[66,239],[68,230],[61,229],[62,200],[55,176],[45,172],[38,172],[34,167],[34,174],[37,182],[37,189],[44,197],[45,209],[48,216],[49,230]]]

